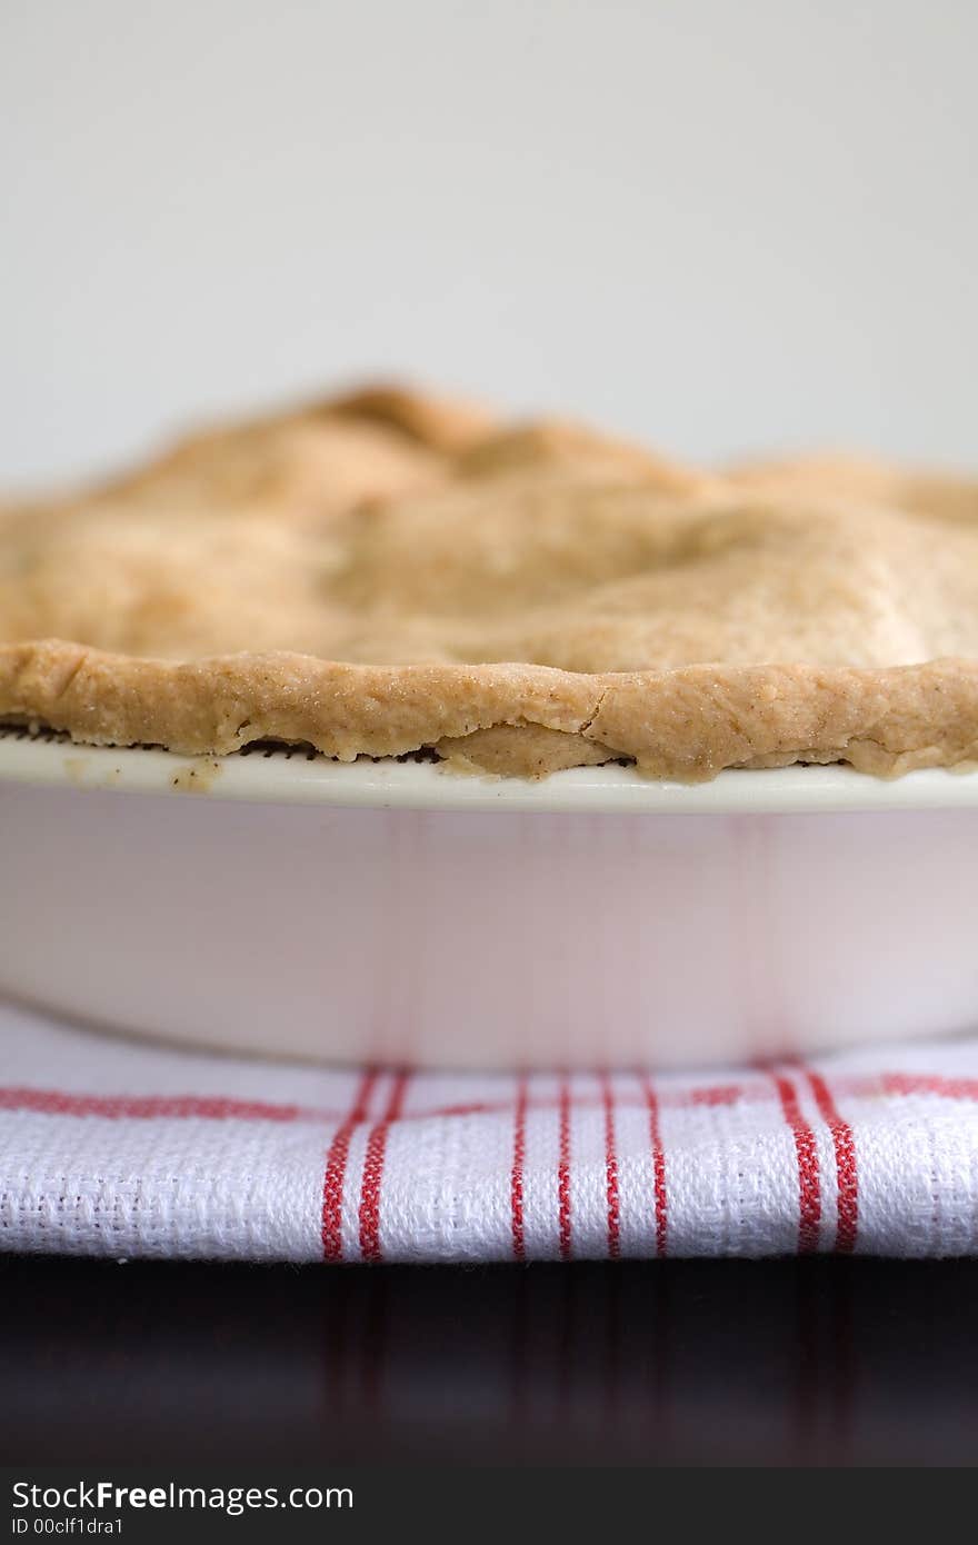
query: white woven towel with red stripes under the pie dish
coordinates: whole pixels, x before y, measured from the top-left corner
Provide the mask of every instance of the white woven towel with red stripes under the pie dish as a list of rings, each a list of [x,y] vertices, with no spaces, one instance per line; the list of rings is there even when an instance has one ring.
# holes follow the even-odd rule
[[[0,1248],[972,1255],[978,1038],[522,1078],[232,1060],[0,1004]]]

